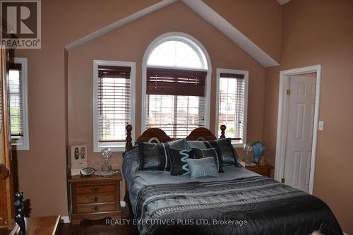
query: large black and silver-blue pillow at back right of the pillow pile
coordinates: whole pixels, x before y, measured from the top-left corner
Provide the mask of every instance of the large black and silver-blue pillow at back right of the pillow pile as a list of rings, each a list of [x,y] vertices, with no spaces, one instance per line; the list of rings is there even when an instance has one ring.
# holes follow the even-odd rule
[[[209,141],[189,140],[187,141],[187,145],[189,149],[218,147],[218,154],[223,165],[235,164],[236,167],[240,167],[237,151],[234,150],[230,138]]]

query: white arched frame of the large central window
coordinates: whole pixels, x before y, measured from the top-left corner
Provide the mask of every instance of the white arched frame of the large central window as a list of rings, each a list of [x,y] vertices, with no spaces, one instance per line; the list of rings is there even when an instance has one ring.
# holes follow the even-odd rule
[[[189,68],[189,67],[176,67],[176,66],[148,66],[148,58],[152,51],[162,44],[163,42],[167,42],[169,40],[179,40],[188,44],[192,47],[196,53],[203,59],[203,68]],[[203,53],[200,54],[200,52]],[[146,80],[147,80],[147,68],[170,68],[170,69],[179,69],[179,70],[189,70],[189,71],[206,71],[206,106],[205,106],[205,128],[210,128],[210,98],[211,98],[211,76],[212,76],[212,65],[210,61],[210,56],[208,55],[207,50],[203,47],[203,44],[196,40],[195,37],[188,35],[184,32],[167,32],[163,35],[160,35],[155,40],[153,40],[143,55],[143,62],[142,62],[142,87],[141,87],[141,133],[146,129]]]

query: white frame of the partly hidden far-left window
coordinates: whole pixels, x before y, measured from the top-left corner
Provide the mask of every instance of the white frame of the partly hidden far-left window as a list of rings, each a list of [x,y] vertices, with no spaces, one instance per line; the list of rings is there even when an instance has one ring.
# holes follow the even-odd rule
[[[14,64],[21,64],[22,79],[22,121],[23,136],[11,136],[13,150],[30,150],[30,136],[28,130],[28,70],[27,58],[13,57]]]

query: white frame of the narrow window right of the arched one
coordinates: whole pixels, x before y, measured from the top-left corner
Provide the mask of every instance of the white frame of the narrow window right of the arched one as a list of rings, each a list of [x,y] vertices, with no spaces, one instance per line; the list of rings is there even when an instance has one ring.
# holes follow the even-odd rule
[[[217,85],[216,85],[216,107],[215,107],[215,133],[218,134],[219,117],[220,117],[220,74],[221,73],[234,73],[244,75],[244,123],[243,123],[243,136],[241,138],[242,143],[234,143],[232,141],[233,147],[243,147],[246,143],[246,131],[247,131],[247,116],[248,116],[248,95],[249,95],[249,71],[246,70],[235,70],[226,68],[217,68]],[[227,138],[227,129],[226,129]],[[218,136],[219,137],[219,136]]]

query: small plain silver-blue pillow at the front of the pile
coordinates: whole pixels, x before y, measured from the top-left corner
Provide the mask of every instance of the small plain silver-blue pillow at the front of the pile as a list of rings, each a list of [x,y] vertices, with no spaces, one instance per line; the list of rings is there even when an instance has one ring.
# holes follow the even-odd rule
[[[190,178],[219,176],[214,157],[205,157],[200,159],[187,158],[186,162],[189,165]]]

